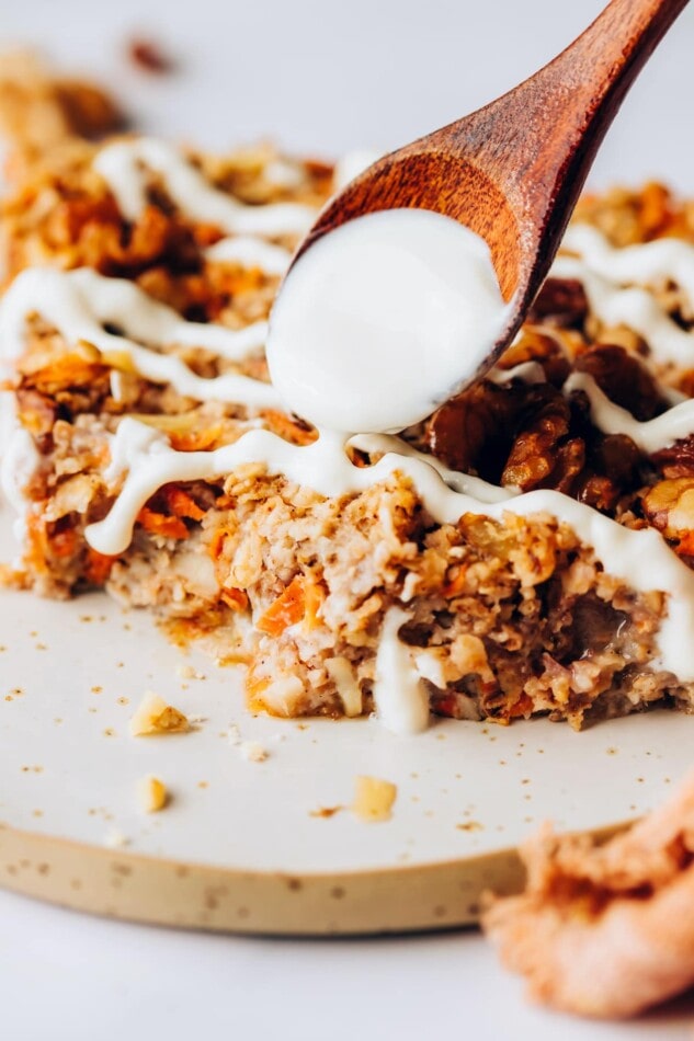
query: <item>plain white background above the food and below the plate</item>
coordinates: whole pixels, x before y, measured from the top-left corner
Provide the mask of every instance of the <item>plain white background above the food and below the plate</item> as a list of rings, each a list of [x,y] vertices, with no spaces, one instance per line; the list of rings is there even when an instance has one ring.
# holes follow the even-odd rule
[[[595,0],[8,0],[0,46],[41,45],[101,75],[141,124],[224,148],[269,136],[330,156],[395,147],[491,100],[561,49]],[[150,78],[134,34],[180,61]],[[593,184],[694,193],[694,8],[634,88]],[[527,1008],[475,933],[365,941],[184,935],[0,892],[0,1031],[12,1041],[690,1038],[685,999],[628,1026]]]

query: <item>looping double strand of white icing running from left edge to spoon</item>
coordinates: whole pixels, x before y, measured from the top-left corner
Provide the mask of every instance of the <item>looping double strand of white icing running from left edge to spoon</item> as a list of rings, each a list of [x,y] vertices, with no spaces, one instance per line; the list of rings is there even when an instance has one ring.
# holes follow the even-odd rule
[[[262,347],[266,322],[240,330],[186,322],[124,278],[105,278],[87,267],[68,272],[30,267],[16,276],[0,304],[0,350],[5,358],[18,357],[24,350],[26,320],[33,313],[41,314],[69,343],[84,340],[104,354],[125,355],[146,379],[170,384],[184,397],[246,402],[257,408],[278,404],[277,392],[270,384],[234,373],[203,378],[180,358],[159,354],[103,328],[104,323],[113,323],[152,345],[205,347],[237,361]]]

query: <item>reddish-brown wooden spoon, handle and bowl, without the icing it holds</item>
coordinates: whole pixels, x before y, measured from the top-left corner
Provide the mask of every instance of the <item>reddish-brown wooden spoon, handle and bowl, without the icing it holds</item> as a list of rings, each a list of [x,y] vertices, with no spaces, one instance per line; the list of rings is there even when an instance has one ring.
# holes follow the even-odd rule
[[[559,247],[600,142],[627,90],[687,0],[612,0],[554,61],[471,115],[400,148],[333,198],[300,256],[333,228],[379,209],[432,209],[489,244],[509,321],[476,374],[520,328]],[[295,258],[296,260],[296,258]]]

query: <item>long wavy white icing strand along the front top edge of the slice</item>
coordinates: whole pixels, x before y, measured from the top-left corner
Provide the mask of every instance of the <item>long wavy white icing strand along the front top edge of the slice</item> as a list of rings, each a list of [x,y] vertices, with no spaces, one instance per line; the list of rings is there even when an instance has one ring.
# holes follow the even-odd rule
[[[122,437],[134,443],[128,432],[133,423],[136,421],[123,420],[116,441]],[[626,585],[641,593],[661,590],[670,595],[668,616],[658,636],[656,664],[683,682],[694,679],[690,653],[694,641],[694,574],[655,529],[625,528],[560,492],[541,490],[501,502],[483,502],[448,488],[436,467],[421,454],[388,451],[372,467],[355,467],[344,451],[344,438],[326,433],[314,444],[298,447],[269,431],[250,431],[235,444],[209,453],[174,451],[157,442],[130,450],[128,458],[129,473],[111,513],[86,533],[90,545],[106,556],[117,556],[127,548],[139,510],[162,484],[209,480],[248,462],[262,464],[269,473],[284,474],[326,496],[357,493],[399,472],[412,481],[428,512],[440,524],[456,524],[466,513],[497,520],[502,520],[504,513],[551,514],[569,525],[584,545],[592,546],[596,558]]]

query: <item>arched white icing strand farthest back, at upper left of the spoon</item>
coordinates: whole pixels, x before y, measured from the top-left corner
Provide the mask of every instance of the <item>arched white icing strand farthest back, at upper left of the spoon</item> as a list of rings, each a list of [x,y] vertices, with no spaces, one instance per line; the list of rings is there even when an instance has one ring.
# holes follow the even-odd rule
[[[181,213],[198,224],[229,234],[303,234],[315,220],[311,206],[274,203],[247,206],[213,187],[181,152],[156,138],[141,137],[106,145],[93,161],[128,220],[147,206],[149,174],[158,174]]]

